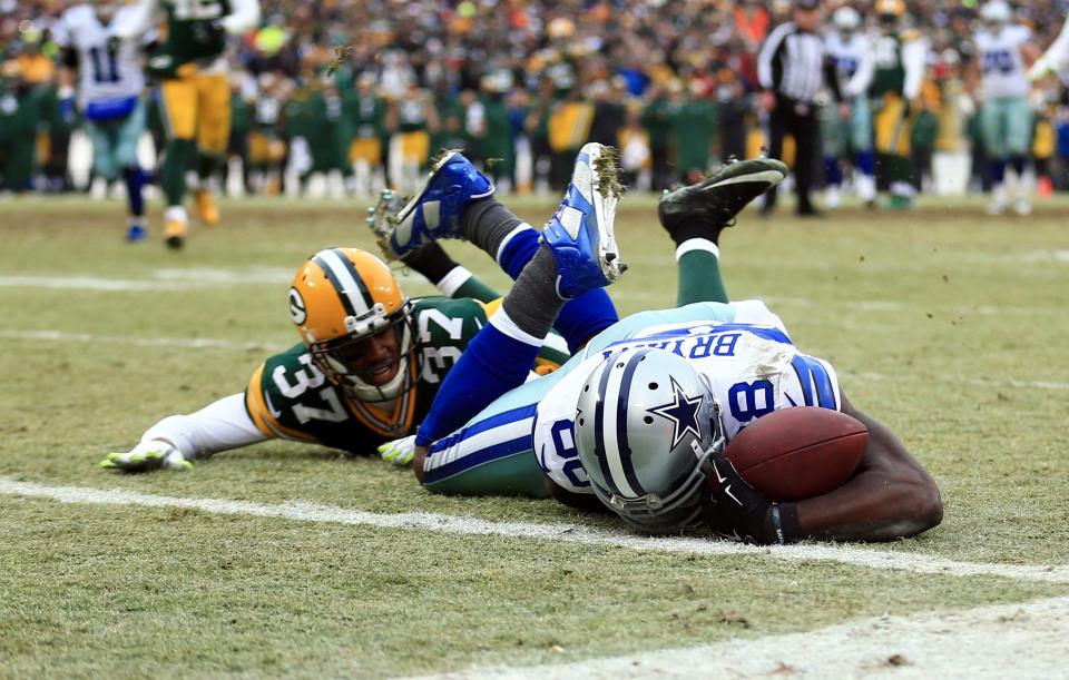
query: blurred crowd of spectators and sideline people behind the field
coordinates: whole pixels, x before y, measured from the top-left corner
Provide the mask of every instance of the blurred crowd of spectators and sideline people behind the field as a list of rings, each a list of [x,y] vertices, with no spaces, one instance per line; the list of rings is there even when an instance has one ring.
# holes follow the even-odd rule
[[[82,188],[70,179],[80,121],[58,93],[53,36],[70,4],[0,0],[4,190]],[[409,186],[439,148],[465,149],[504,189],[556,188],[587,140],[617,146],[639,188],[694,179],[761,152],[756,53],[791,10],[779,0],[261,4],[261,28],[229,51],[228,154],[242,190],[263,194],[300,193],[317,175],[357,194]],[[838,4],[827,3],[828,17]],[[870,17],[869,0],[850,4]],[[1066,4],[1020,2],[1016,19],[1045,48]],[[923,185],[933,152],[982,155],[975,102],[963,86],[979,7],[912,0],[909,10],[929,46],[926,119],[913,140]],[[1069,184],[1063,90],[1051,79],[1031,98],[1041,193]],[[148,120],[161,150],[163,122],[151,106]],[[980,188],[983,164],[973,167]]]

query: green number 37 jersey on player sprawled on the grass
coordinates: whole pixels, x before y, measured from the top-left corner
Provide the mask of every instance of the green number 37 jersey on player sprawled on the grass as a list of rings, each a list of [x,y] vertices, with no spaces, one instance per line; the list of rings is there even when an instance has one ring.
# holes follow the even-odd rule
[[[297,344],[261,364],[249,380],[245,408],[256,427],[271,437],[355,454],[371,454],[379,444],[413,434],[442,378],[486,325],[488,314],[487,305],[471,298],[432,296],[412,302],[419,341],[419,361],[409,365],[415,380],[412,390],[389,407],[360,402],[327,381],[304,344]]]

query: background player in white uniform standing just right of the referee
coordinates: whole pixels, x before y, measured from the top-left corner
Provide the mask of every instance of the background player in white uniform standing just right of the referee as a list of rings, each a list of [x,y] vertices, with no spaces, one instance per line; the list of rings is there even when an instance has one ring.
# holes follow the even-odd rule
[[[824,205],[838,206],[842,168],[849,160],[854,169],[857,196],[866,204],[876,199],[876,160],[872,148],[872,109],[869,86],[872,83],[873,52],[861,14],[850,6],[832,14],[834,30],[827,35],[827,52],[835,65],[843,102],[825,109],[824,176],[827,189]]]

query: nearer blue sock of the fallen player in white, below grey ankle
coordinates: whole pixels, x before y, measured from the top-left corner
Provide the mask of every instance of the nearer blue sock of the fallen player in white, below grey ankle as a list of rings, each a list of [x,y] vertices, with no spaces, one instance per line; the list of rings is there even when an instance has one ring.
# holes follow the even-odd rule
[[[492,323],[483,326],[445,374],[431,412],[416,432],[416,446],[454,432],[496,398],[522,385],[538,351],[538,345],[506,335]]]

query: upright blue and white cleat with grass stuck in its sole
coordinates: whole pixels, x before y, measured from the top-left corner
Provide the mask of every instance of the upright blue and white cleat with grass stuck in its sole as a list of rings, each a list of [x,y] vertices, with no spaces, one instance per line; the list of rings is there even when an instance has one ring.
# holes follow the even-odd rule
[[[557,259],[557,294],[570,299],[608,286],[627,270],[612,235],[616,204],[624,193],[616,149],[586,144],[571,184],[542,239]]]

